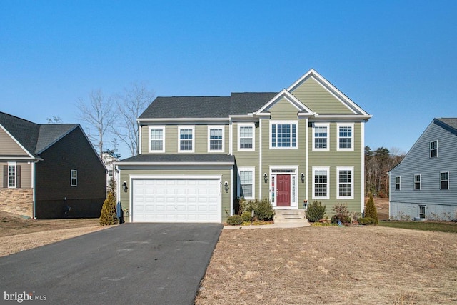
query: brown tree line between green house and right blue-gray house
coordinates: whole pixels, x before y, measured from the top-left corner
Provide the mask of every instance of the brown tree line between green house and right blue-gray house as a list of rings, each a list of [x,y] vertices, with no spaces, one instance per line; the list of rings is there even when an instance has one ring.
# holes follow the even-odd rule
[[[375,151],[365,146],[365,196],[387,198],[389,196],[388,171],[403,160],[405,153],[398,149],[389,151],[380,147]]]

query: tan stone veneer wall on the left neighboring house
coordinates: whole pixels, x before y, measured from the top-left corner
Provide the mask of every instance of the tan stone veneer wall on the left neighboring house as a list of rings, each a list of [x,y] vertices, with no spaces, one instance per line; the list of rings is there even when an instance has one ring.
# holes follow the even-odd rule
[[[0,189],[0,210],[33,217],[33,189]]]

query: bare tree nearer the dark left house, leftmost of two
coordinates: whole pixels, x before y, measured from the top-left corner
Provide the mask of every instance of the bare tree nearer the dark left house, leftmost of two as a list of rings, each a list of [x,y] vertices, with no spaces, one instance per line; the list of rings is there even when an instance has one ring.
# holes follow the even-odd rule
[[[104,96],[101,90],[95,90],[89,94],[88,104],[83,99],[79,99],[76,106],[80,111],[79,119],[86,122],[88,136],[99,149],[100,158],[103,158],[104,139],[116,118],[112,99]]]

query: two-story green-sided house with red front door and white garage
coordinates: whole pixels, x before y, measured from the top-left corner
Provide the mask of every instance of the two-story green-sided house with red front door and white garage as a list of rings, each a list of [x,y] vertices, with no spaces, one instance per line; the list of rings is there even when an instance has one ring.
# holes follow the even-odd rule
[[[116,162],[128,221],[224,222],[237,199],[363,210],[371,115],[311,69],[280,92],[158,97],[140,151]]]

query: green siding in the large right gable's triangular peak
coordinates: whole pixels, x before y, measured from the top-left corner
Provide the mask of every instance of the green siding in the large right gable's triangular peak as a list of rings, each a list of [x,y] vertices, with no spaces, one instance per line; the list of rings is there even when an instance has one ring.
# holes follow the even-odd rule
[[[353,114],[351,109],[336,99],[313,78],[303,81],[291,94],[318,114]]]

